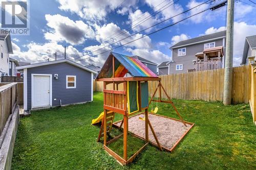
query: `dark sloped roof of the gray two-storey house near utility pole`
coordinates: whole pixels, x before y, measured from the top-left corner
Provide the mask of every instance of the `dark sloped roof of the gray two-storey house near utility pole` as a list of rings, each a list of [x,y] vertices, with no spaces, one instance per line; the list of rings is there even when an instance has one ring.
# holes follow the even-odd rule
[[[171,46],[170,49],[182,47],[182,46],[185,46],[185,45],[197,44],[197,43],[201,43],[201,42],[208,41],[208,40],[221,39],[225,36],[226,36],[226,31],[221,31],[221,32],[208,34],[208,35],[203,35],[203,36],[200,36],[200,37],[180,41],[180,42],[174,44],[173,46]]]

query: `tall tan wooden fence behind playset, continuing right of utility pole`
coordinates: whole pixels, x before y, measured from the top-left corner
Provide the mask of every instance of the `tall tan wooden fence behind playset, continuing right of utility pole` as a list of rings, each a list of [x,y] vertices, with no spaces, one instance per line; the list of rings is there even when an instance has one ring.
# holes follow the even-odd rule
[[[223,101],[224,68],[159,76],[170,98],[184,100]],[[248,103],[250,98],[249,66],[233,67],[232,103]],[[151,96],[157,82],[149,82]],[[103,82],[95,83],[95,90],[102,91]],[[108,87],[107,87],[108,88]],[[122,88],[122,87],[120,87]],[[111,89],[108,88],[108,89]],[[162,98],[167,96],[162,92]],[[158,92],[156,97],[158,97]]]

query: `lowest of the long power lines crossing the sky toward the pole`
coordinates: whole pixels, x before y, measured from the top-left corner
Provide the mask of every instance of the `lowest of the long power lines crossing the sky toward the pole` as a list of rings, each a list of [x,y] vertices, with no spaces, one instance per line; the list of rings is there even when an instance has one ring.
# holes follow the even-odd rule
[[[198,15],[198,14],[200,14],[200,13],[203,13],[203,12],[209,10],[209,9],[210,9],[210,8],[207,8],[207,9],[201,11],[201,12],[198,12],[198,13],[196,13],[196,14],[190,15],[190,16],[188,16],[188,17],[186,17],[186,18],[184,18],[184,19],[181,19],[181,20],[179,20],[179,21],[177,21],[177,22],[175,22],[175,23],[173,23],[173,24],[171,24],[171,25],[165,26],[165,27],[163,27],[163,28],[161,28],[161,29],[159,29],[159,30],[156,30],[156,31],[151,32],[151,33],[146,34],[146,35],[143,35],[142,37],[137,38],[137,39],[135,39],[135,40],[133,40],[133,41],[130,41],[130,42],[127,42],[127,43],[125,43],[125,44],[119,45],[119,46],[117,46],[117,47],[111,48],[111,49],[108,50],[108,51],[99,53],[99,54],[97,54],[97,55],[94,55],[94,56],[91,56],[91,57],[88,57],[88,58],[85,58],[85,59],[80,59],[80,60],[78,60],[78,61],[86,60],[86,59],[89,59],[89,58],[98,56],[98,55],[100,55],[100,54],[104,54],[104,53],[110,52],[110,51],[112,51],[112,50],[114,50],[114,49],[116,49],[116,48],[119,48],[119,47],[121,47],[121,46],[127,45],[127,44],[129,44],[129,43],[132,43],[132,42],[137,41],[137,40],[139,40],[139,39],[141,39],[141,38],[144,38],[144,37],[146,37],[146,36],[150,36],[150,35],[155,34],[155,33],[159,32],[159,31],[161,31],[161,30],[164,30],[164,29],[166,29],[166,28],[172,27],[172,26],[176,25],[176,24],[179,23],[179,22],[182,22],[182,21],[184,21],[184,20],[186,20],[186,19],[188,19],[188,18],[191,18],[191,17],[193,17],[193,16],[195,16],[195,15]]]

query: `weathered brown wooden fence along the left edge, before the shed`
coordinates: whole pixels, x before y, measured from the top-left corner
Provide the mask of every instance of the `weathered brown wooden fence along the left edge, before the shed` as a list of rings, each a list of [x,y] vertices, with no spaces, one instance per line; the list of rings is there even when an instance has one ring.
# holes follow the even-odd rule
[[[13,113],[16,103],[17,83],[10,83],[0,87],[0,135],[7,123],[9,115]]]

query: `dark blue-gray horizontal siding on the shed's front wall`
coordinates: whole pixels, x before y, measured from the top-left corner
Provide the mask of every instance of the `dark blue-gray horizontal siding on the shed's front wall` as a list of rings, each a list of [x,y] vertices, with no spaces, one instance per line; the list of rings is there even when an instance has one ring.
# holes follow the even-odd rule
[[[57,63],[28,68],[28,110],[31,109],[31,74],[52,75],[52,106],[59,106],[59,100],[62,105],[91,101],[91,72],[69,63]],[[58,74],[58,80],[55,80],[54,74]],[[66,88],[67,75],[76,76],[76,88]]]

